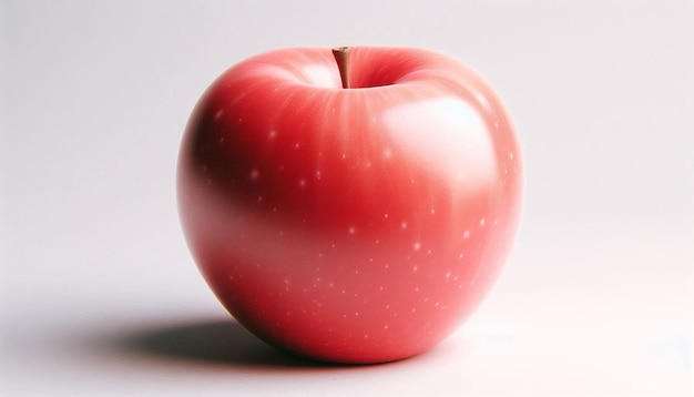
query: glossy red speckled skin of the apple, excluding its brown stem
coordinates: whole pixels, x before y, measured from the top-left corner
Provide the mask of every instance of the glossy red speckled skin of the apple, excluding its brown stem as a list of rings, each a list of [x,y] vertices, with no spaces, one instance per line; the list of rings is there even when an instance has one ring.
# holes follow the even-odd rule
[[[210,287],[259,338],[335,363],[439,344],[511,250],[521,151],[498,95],[423,49],[267,52],[224,72],[188,121],[183,231]]]

